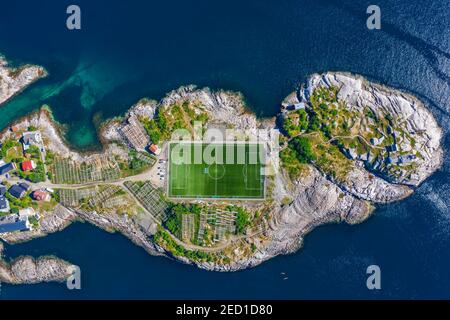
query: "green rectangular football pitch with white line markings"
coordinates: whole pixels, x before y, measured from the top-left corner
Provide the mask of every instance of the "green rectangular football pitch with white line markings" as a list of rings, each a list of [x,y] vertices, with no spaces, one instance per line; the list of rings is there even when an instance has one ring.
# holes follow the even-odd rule
[[[205,154],[212,155],[214,160]],[[263,199],[264,156],[264,145],[259,143],[172,142],[168,195],[171,198]],[[175,159],[180,157],[183,161]]]

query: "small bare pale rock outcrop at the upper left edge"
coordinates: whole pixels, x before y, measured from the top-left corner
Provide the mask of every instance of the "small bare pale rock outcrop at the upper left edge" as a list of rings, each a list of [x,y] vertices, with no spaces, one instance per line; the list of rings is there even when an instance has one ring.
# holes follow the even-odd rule
[[[9,67],[0,55],[0,105],[46,75],[47,71],[40,66]]]

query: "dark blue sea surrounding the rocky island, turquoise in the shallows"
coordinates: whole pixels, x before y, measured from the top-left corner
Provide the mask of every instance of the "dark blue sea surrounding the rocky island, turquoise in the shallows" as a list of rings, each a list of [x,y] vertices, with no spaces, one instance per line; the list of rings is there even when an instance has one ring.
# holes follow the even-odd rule
[[[82,29],[65,27],[78,4]],[[96,127],[142,97],[183,84],[242,92],[261,117],[308,75],[349,71],[425,101],[444,128],[445,164],[405,201],[358,226],[328,225],[304,248],[256,268],[213,273],[152,257],[120,234],[89,224],[6,255],[54,254],[81,267],[82,290],[2,284],[0,299],[430,299],[450,298],[450,2],[378,0],[381,30],[368,30],[372,1],[1,1],[0,52],[50,75],[0,108],[0,128],[51,106],[78,149],[99,148]],[[381,290],[366,268],[381,268]]]

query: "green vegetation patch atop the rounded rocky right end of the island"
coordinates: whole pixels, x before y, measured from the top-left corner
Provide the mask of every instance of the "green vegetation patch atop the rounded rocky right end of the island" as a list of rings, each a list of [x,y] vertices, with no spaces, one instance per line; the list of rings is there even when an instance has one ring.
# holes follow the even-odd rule
[[[348,110],[344,102],[338,101],[338,92],[336,87],[317,88],[311,95],[307,116],[296,111],[293,116],[288,113],[285,117],[287,122],[283,126],[291,140],[280,153],[280,158],[291,178],[300,176],[305,164],[314,163],[325,174],[344,180],[353,162],[346,158],[342,150],[354,148],[358,154],[370,150],[371,146],[358,138],[359,122],[355,122],[361,117],[376,124],[379,120],[369,108],[365,109],[364,114]],[[374,125],[373,130],[376,129]],[[306,134],[302,135],[302,132]],[[352,138],[352,135],[355,137]],[[367,136],[368,140],[370,138]]]

